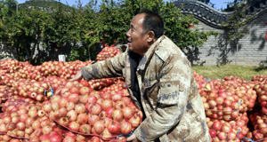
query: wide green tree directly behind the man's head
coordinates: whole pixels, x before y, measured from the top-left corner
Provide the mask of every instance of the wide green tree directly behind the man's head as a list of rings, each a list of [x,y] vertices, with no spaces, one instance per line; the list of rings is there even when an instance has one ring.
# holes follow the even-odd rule
[[[190,24],[198,24],[198,20],[192,15],[183,15],[173,3],[165,3],[162,0],[125,0],[116,4],[112,0],[104,2],[100,11],[100,17],[104,22],[101,30],[102,33],[108,33],[111,43],[117,39],[126,41],[125,33],[129,29],[130,21],[144,9],[158,12],[162,16],[165,20],[166,36],[173,39],[182,49],[201,46],[207,40],[207,36],[215,35],[214,32],[203,32],[197,28],[191,30]]]

